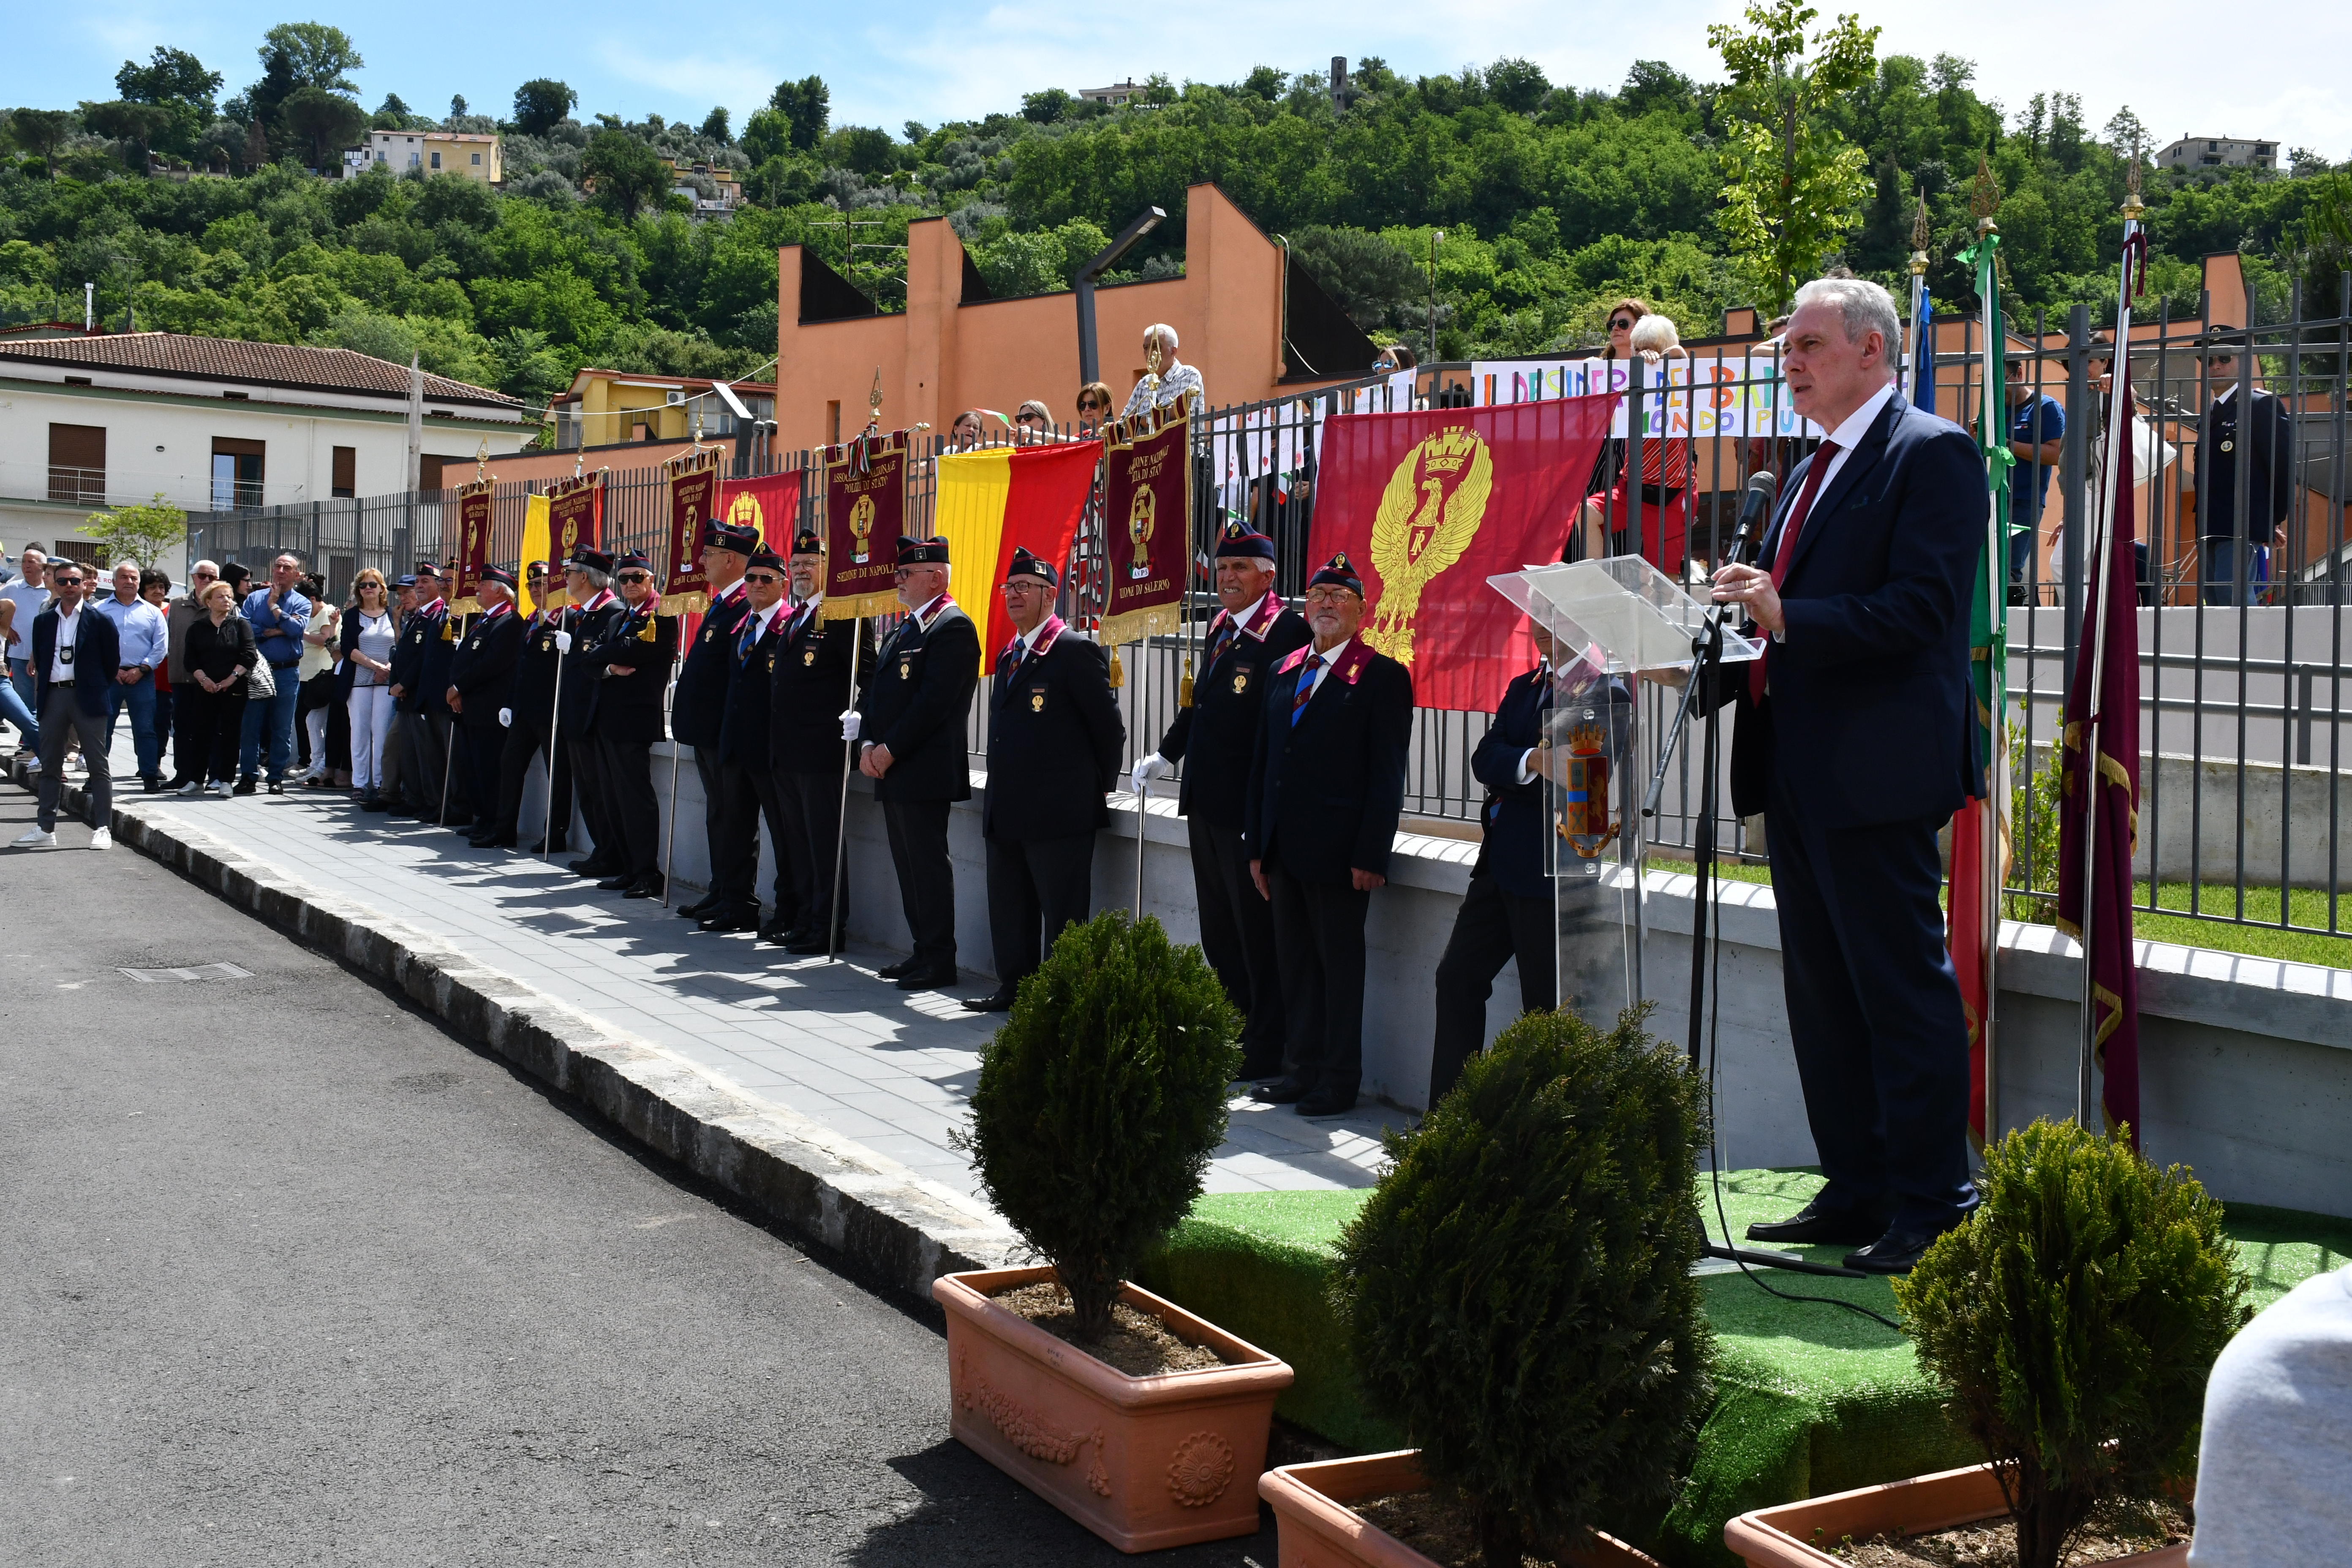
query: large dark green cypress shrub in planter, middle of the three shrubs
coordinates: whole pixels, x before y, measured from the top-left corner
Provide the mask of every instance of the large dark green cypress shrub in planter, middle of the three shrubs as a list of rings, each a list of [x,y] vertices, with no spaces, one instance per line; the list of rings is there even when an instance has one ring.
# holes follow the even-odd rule
[[[1712,1387],[1700,1084],[1642,1023],[1531,1013],[1390,1138],[1334,1302],[1418,1450],[1268,1474],[1284,1563],[1649,1561],[1592,1526],[1672,1495]]]

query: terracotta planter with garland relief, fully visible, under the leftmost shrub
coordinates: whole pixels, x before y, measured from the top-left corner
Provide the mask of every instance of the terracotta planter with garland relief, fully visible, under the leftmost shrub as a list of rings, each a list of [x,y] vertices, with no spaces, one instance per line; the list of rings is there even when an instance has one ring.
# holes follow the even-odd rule
[[[1129,1378],[988,1300],[1054,1269],[931,1281],[955,1439],[1120,1552],[1256,1535],[1265,1432],[1291,1368],[1141,1286],[1120,1300],[1228,1366]]]

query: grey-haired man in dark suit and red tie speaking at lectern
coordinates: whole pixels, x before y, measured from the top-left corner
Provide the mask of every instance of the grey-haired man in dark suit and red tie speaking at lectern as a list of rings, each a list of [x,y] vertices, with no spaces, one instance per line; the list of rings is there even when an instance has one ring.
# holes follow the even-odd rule
[[[1943,947],[1936,830],[1976,776],[1969,592],[1985,465],[1893,388],[1875,282],[1818,280],[1790,315],[1788,386],[1830,433],[1780,491],[1755,567],[1715,574],[1766,654],[1738,703],[1731,804],[1764,811],[1788,1023],[1828,1178],[1757,1241],[1837,1241],[1900,1274],[1976,1208],[1969,1027]]]

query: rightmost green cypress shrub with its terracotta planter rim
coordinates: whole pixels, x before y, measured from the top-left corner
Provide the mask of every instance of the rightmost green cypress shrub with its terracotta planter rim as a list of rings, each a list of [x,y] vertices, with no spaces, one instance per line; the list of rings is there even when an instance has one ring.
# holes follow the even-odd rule
[[[1985,1150],[1978,1190],[1896,1302],[1987,1462],[1743,1514],[1724,1542],[1750,1563],[2006,1516],[2018,1568],[2056,1568],[2103,1505],[2145,1509],[2194,1474],[2206,1375],[2253,1316],[2220,1204],[2070,1121]],[[2187,1542],[2107,1561],[2180,1563]]]

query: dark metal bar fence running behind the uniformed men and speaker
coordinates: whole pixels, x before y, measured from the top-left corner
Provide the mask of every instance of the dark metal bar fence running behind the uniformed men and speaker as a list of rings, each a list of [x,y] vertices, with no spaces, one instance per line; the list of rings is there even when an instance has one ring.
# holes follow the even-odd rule
[[[2018,571],[2009,609],[2006,719],[2018,745],[2013,778],[2011,914],[2049,919],[2056,889],[2058,830],[2051,818],[2049,755],[2060,729],[2065,691],[2077,661],[2082,625],[2082,541],[2091,517],[2091,487],[2100,465],[2107,397],[2105,343],[2077,308],[2063,327],[2011,322],[2004,348],[2011,362],[2013,407],[2020,423],[2020,463],[2013,470]],[[2352,665],[2345,658],[2345,595],[2352,576],[2352,470],[2347,470],[2347,371],[2352,371],[2352,284],[2333,315],[2310,315],[2296,296],[2277,322],[2209,327],[2206,320],[2157,317],[2133,331],[2136,393],[2133,461],[2138,477],[2138,538],[2143,545],[2143,907],[2194,919],[2270,924],[2296,931],[2343,931],[2336,827],[2352,816],[2343,802],[2345,722],[2340,698]],[[1983,329],[1973,317],[1947,317],[1936,329],[1936,411],[1971,423],[1983,395]],[[2213,353],[2230,348],[2232,357]],[[1766,343],[1712,343],[1691,350],[1691,386],[1682,395],[1649,390],[1649,418],[1621,418],[1595,468],[1590,512],[1562,520],[1566,557],[1590,548],[1642,552],[1665,571],[1696,578],[1722,557],[1748,477],[1788,475],[1811,449],[1802,425],[1785,416],[1785,386]],[[1418,402],[1463,404],[1486,395],[1468,364],[1437,364],[1421,374]],[[1656,376],[1656,371],[1644,371]],[[1541,374],[1512,378],[1510,397],[1541,397]],[[1298,397],[1209,409],[1195,440],[1195,583],[1183,630],[1122,651],[1122,715],[1129,759],[1155,748],[1176,715],[1178,686],[1209,616],[1211,541],[1228,517],[1251,522],[1277,541],[1284,595],[1296,597],[1312,567],[1310,531],[1322,421],[1336,414],[1404,407],[1414,390],[1392,378],[1317,388]],[[1552,390],[1550,395],[1559,395]],[[1621,393],[1632,400],[1632,393]],[[2216,501],[2199,489],[2211,473],[2216,407],[2277,397],[2291,425],[2291,477],[2263,491],[2249,463],[2237,463],[2234,489]],[[1496,400],[1503,400],[1501,393]],[[2267,407],[2267,404],[2265,404]],[[1726,414],[1731,411],[1731,414]],[[1762,416],[1759,416],[1762,411]],[[2044,428],[2034,428],[2034,418]],[[2056,416],[2051,414],[2056,411]],[[2032,437],[2063,418],[2051,451]],[[1082,428],[1025,430],[990,425],[983,447],[1089,437]],[[2199,437],[2209,451],[2199,456]],[[950,451],[941,433],[913,440],[908,527],[929,529],[936,501],[936,458]],[[600,456],[600,454],[588,454]],[[762,451],[736,473],[797,473],[800,515],[814,522],[821,451]],[[1651,480],[1658,480],[1656,484]],[[1672,482],[1670,482],[1672,480]],[[499,484],[494,498],[494,559],[520,552],[522,510],[543,482]],[[1108,559],[1096,503],[1087,508],[1068,562],[1061,614],[1089,625],[1103,595]],[[2284,515],[2267,552],[2232,550],[2227,576],[2204,541],[2204,524],[2265,515],[2265,494],[2284,494]],[[278,550],[301,550],[320,564],[329,592],[341,597],[360,567],[400,569],[416,557],[452,555],[454,491],[320,501],[294,508],[223,510],[191,520],[191,548],[212,557],[261,562]],[[604,501],[607,548],[649,555],[663,543],[663,482],[659,468],[612,470]],[[1752,543],[1750,543],[1752,550]],[[967,585],[967,597],[974,597]],[[1649,745],[1670,719],[1672,693],[1646,686],[1642,733]],[[1414,717],[1406,813],[1430,823],[1475,820],[1482,790],[1470,755],[1489,715],[1423,708]],[[969,719],[974,759],[985,759],[985,701]],[[1656,762],[1656,757],[1651,757]],[[2042,771],[2039,776],[2034,771]],[[1661,816],[1649,839],[1665,856],[1696,842],[1691,804],[1698,799],[1693,762],[1670,766]],[[1729,788],[1719,790],[1729,811]],[[1715,842],[1745,860],[1766,860],[1755,823],[1724,818]],[[1444,827],[1439,827],[1444,830]]]

